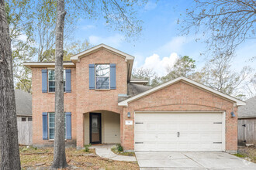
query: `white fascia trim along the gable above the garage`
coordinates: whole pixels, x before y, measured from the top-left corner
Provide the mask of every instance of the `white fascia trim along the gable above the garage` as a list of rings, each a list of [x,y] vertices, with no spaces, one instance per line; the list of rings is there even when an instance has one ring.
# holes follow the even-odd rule
[[[144,93],[139,93],[139,94],[137,94],[134,97],[130,97],[129,99],[123,100],[123,101],[119,102],[118,105],[119,106],[128,107],[128,103],[129,102],[131,102],[133,100],[137,100],[137,99],[139,99],[141,97],[147,96],[148,94],[154,93],[157,90],[161,90],[164,87],[168,87],[169,85],[171,85],[173,83],[176,83],[176,82],[178,82],[180,80],[184,80],[185,82],[191,83],[191,84],[195,85],[196,87],[200,87],[200,88],[202,88],[204,90],[207,90],[207,91],[209,91],[211,93],[215,93],[215,94],[219,95],[220,97],[224,97],[224,98],[227,98],[229,100],[232,100],[232,101],[234,101],[236,103],[237,106],[244,106],[245,105],[245,102],[242,101],[242,100],[238,100],[238,99],[236,99],[234,97],[231,97],[231,96],[229,96],[229,95],[227,95],[225,93],[221,93],[220,91],[214,90],[214,89],[212,89],[210,87],[206,87],[202,83],[197,83],[197,82],[195,82],[193,80],[189,80],[188,78],[185,78],[184,76],[180,76],[180,77],[178,77],[175,80],[168,81],[167,83],[163,83],[160,86],[157,86],[157,87],[154,87],[154,88],[152,88],[150,90],[145,91]]]

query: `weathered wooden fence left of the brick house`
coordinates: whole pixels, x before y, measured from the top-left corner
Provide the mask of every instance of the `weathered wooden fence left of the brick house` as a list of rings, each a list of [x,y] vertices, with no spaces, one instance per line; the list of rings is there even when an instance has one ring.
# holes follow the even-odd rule
[[[32,121],[18,121],[18,138],[20,145],[32,145]]]

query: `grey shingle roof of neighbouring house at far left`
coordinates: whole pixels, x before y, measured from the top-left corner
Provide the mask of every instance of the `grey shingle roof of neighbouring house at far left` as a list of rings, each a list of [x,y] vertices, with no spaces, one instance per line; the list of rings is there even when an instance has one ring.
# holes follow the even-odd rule
[[[16,89],[16,114],[32,116],[32,95],[25,91]]]

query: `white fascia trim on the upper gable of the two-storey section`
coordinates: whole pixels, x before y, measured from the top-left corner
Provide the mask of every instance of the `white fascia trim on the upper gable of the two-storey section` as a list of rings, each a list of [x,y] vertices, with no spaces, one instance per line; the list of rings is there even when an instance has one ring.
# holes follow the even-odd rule
[[[106,46],[106,44],[99,44],[98,46],[94,46],[91,49],[87,49],[84,52],[78,53],[74,56],[71,56],[71,61],[78,61],[79,56],[83,56],[87,53],[92,53],[93,51],[97,50],[97,49],[101,49],[101,48],[105,48],[105,49],[109,49],[110,51],[114,52],[114,53],[118,53],[121,56],[125,56],[126,60],[133,60],[134,56],[130,56],[127,53],[123,53],[122,51],[119,51],[118,49],[114,49],[111,46]]]

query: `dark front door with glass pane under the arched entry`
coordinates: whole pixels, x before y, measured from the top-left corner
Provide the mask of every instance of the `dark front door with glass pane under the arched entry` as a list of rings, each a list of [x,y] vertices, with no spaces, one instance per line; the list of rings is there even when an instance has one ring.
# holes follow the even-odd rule
[[[90,113],[90,143],[102,143],[102,115]]]

